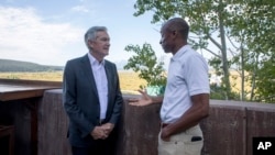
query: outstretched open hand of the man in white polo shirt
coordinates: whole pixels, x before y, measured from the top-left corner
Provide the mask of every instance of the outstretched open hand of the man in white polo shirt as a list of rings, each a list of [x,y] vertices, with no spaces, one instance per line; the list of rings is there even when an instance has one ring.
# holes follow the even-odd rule
[[[153,103],[152,98],[147,95],[146,91],[143,90],[138,90],[142,97],[139,99],[129,99],[129,104],[131,106],[138,106],[138,107],[142,107],[142,106],[148,106],[151,103]]]

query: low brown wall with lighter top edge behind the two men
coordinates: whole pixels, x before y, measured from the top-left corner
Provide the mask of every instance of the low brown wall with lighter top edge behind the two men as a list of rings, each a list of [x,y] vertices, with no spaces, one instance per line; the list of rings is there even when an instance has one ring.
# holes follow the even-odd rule
[[[133,97],[123,96],[118,155],[157,155],[161,106],[129,106]],[[38,155],[68,155],[62,90],[46,91],[38,109]],[[202,155],[252,155],[252,137],[275,136],[274,118],[275,104],[211,100],[210,115],[201,122]]]

